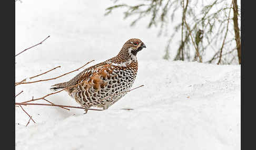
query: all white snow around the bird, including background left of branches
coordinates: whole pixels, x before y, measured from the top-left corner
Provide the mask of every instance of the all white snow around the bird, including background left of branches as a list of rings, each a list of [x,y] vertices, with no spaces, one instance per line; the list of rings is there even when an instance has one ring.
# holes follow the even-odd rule
[[[91,3],[99,9],[90,8]],[[15,53],[51,35],[15,58],[16,82],[61,66],[31,81],[57,77],[95,59],[86,66],[90,67],[117,55],[129,38],[140,38],[147,47],[137,54],[139,71],[133,85],[144,87],[127,93],[108,110],[83,114],[78,109],[23,106],[36,122],[26,126],[29,117],[15,107],[16,149],[240,149],[240,65],[164,60],[166,40],[156,37],[158,30],[146,29],[143,22],[130,28],[129,20],[118,13],[104,17],[110,5],[107,1],[15,3]],[[87,20],[91,24],[84,24]],[[24,92],[16,102],[40,98],[51,92],[51,85],[70,80],[83,69],[55,80],[17,85],[15,93]],[[79,106],[66,92],[46,99]]]

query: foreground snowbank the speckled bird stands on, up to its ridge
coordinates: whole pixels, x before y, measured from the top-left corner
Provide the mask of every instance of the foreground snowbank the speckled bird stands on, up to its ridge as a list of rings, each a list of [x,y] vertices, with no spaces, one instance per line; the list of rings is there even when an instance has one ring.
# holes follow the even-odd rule
[[[17,63],[16,81],[24,78],[22,74],[33,76],[57,65],[62,68],[40,78],[55,77],[83,65],[42,63]],[[50,92],[52,84],[77,73],[18,85],[16,93],[24,93],[16,102],[41,97]],[[76,109],[23,106],[36,121],[26,127],[28,116],[15,108],[16,149],[240,149],[240,74],[240,66],[233,65],[139,60],[133,88],[141,84],[144,87],[127,93],[108,110],[83,114],[83,110]],[[78,106],[65,92],[48,100]]]

